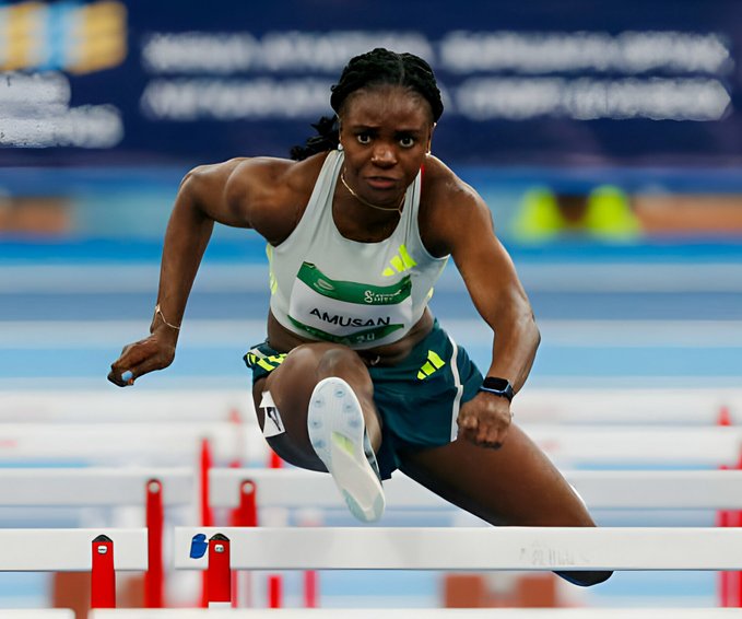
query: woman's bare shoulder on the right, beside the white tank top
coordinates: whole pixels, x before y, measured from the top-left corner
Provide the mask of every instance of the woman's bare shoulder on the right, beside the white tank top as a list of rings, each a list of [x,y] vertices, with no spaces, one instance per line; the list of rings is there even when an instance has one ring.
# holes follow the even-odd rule
[[[459,241],[492,234],[492,215],[482,197],[448,165],[428,155],[421,191],[420,229],[435,256],[450,254]]]

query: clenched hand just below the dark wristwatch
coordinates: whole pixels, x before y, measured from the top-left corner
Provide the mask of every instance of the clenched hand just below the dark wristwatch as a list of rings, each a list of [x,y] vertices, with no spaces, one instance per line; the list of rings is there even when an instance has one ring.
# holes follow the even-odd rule
[[[459,437],[480,447],[503,446],[513,421],[507,398],[480,392],[459,410]]]

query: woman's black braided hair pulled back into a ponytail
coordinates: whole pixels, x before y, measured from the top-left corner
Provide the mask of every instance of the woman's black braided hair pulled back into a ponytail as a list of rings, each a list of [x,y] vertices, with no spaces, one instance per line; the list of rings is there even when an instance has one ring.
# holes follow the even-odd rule
[[[351,58],[340,80],[332,86],[330,105],[340,114],[343,104],[354,92],[380,84],[405,86],[420,94],[431,105],[433,121],[444,112],[440,91],[431,66],[414,54],[397,54],[382,47]],[[304,145],[291,149],[291,157],[304,160],[313,154],[334,150],[340,143],[338,118],[322,116],[313,127],[317,135]]]

